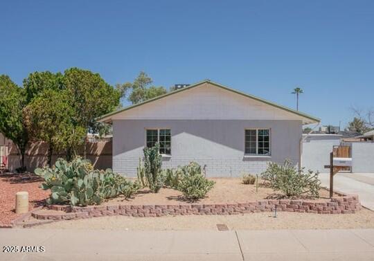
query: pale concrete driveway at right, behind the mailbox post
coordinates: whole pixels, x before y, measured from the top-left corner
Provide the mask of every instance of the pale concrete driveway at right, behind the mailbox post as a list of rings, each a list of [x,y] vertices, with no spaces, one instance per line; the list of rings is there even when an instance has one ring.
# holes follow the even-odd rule
[[[330,188],[330,174],[319,174],[323,186]],[[374,173],[339,172],[334,176],[334,189],[359,195],[362,206],[374,210]]]

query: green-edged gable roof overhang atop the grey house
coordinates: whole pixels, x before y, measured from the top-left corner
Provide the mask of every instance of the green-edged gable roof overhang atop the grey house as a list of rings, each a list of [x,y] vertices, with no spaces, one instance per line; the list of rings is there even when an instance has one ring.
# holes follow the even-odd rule
[[[211,81],[211,80],[203,80],[203,81],[201,81],[201,82],[197,82],[197,83],[195,83],[195,84],[191,84],[191,85],[189,85],[188,87],[184,87],[184,88],[182,88],[182,89],[178,89],[178,90],[176,90],[176,91],[170,91],[169,93],[163,94],[163,95],[161,95],[161,96],[157,96],[157,97],[152,98],[152,99],[149,99],[149,100],[145,100],[144,102],[140,102],[140,103],[138,103],[138,104],[136,104],[136,105],[130,105],[130,106],[125,107],[125,108],[123,108],[123,109],[119,109],[119,110],[117,110],[117,111],[113,111],[113,112],[111,112],[111,113],[109,113],[109,114],[105,114],[105,115],[103,115],[103,116],[100,116],[100,117],[96,118],[96,120],[98,120],[98,121],[100,121],[100,122],[110,122],[110,121],[112,120],[112,116],[114,116],[115,114],[119,114],[119,113],[121,113],[121,112],[123,112],[123,111],[127,111],[127,110],[133,109],[133,108],[135,108],[135,107],[140,107],[140,106],[145,105],[145,104],[148,104],[148,103],[150,103],[150,102],[154,102],[155,100],[160,100],[160,99],[162,99],[162,98],[165,98],[165,97],[168,97],[168,96],[172,96],[172,95],[175,94],[175,93],[179,93],[179,92],[182,92],[182,91],[186,91],[186,90],[189,90],[189,89],[193,89],[193,88],[195,88],[195,87],[197,87],[197,86],[199,86],[199,85],[202,85],[202,84],[204,84],[204,83],[212,84],[212,85],[214,85],[215,87],[219,87],[219,88],[224,89],[224,90],[226,90],[226,91],[231,91],[231,92],[233,92],[233,93],[239,94],[240,96],[244,96],[244,97],[247,97],[247,98],[251,98],[251,99],[253,99],[253,100],[257,100],[258,102],[265,103],[266,105],[270,105],[270,106],[272,106],[272,107],[276,107],[276,108],[278,108],[278,109],[282,109],[282,110],[284,110],[284,111],[291,112],[292,114],[296,114],[296,116],[301,116],[302,118],[305,118],[305,120],[303,120],[303,123],[304,123],[304,124],[319,123],[319,122],[321,121],[321,119],[319,119],[319,118],[317,118],[317,117],[310,116],[310,115],[308,115],[308,114],[304,114],[304,113],[302,113],[302,112],[300,112],[300,111],[296,111],[296,110],[294,110],[294,109],[290,109],[290,108],[285,107],[285,106],[283,106],[283,105],[278,105],[278,104],[276,104],[276,103],[274,103],[274,102],[270,102],[269,100],[265,100],[265,99],[258,98],[258,97],[256,97],[256,96],[253,96],[253,95],[247,94],[247,93],[243,93],[242,91],[237,91],[237,90],[235,90],[235,89],[231,89],[231,88],[229,88],[229,87],[226,87],[226,86],[224,86],[224,85],[222,85],[222,84],[219,84],[219,83],[217,83],[217,82],[213,82],[213,81]]]

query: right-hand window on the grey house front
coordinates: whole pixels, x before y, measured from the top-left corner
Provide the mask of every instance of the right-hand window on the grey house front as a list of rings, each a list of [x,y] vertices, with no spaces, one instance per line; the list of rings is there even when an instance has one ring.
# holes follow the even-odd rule
[[[246,129],[244,153],[270,155],[270,129]]]

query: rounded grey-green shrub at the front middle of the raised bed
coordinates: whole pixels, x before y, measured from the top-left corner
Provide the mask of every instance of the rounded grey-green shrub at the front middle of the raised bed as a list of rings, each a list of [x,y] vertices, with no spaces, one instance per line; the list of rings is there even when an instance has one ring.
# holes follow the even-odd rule
[[[199,164],[191,162],[180,170],[177,189],[183,193],[186,199],[202,199],[213,188],[215,182],[204,177]]]

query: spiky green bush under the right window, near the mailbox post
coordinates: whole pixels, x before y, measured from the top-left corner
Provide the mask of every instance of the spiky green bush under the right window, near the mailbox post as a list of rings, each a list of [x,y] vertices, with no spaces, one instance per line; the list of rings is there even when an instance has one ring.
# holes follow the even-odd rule
[[[290,160],[283,164],[269,163],[267,170],[262,173],[262,179],[276,191],[283,192],[285,197],[319,197],[321,181],[318,172],[298,170]]]

